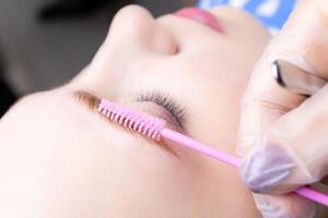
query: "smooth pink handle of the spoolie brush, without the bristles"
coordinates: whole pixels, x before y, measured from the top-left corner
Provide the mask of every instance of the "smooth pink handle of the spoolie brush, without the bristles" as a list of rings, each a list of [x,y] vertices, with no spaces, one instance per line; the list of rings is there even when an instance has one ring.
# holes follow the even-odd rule
[[[219,149],[215,149],[210,145],[206,145],[196,140],[192,140],[191,137],[188,137],[181,133],[178,133],[178,132],[169,130],[169,129],[163,129],[161,134],[162,134],[162,137],[164,137],[166,140],[175,142],[185,147],[191,148],[191,149],[194,149],[198,153],[201,153],[206,156],[212,157],[214,159],[218,159],[220,161],[223,161],[223,162],[229,164],[236,168],[241,167],[239,158],[232,156],[227,153],[221,152]],[[316,203],[328,206],[328,195],[320,193],[318,191],[315,191],[308,186],[300,187],[298,190],[295,190],[294,193],[296,193],[300,196],[303,196],[307,199],[312,199]]]

